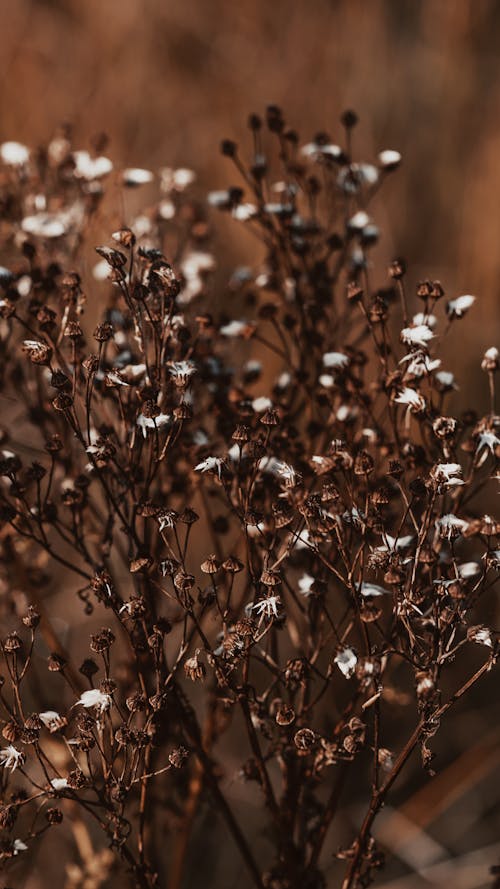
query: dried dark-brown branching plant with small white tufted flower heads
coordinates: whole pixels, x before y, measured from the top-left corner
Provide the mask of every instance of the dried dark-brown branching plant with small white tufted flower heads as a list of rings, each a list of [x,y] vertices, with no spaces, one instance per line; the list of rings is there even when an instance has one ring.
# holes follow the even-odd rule
[[[500,448],[498,352],[485,344],[489,413],[450,416],[456,385],[436,351],[474,297],[423,281],[412,316],[401,261],[373,289],[367,208],[400,157],[353,161],[355,115],[342,123],[343,147],[325,134],[301,147],[270,107],[249,120],[251,163],[222,143],[243,187],[208,203],[265,254],[227,288],[245,318],[216,317],[194,174],[164,169],[160,200],[96,248],[86,311],[94,290],[103,311],[88,322],[82,252],[104,182],[153,174],[113,171],[103,145],[74,151],[67,131],[37,153],[0,147],[10,879],[64,815],[99,850],[92,885],[116,868],[131,886],[179,889],[210,799],[245,885],[326,886],[328,835],[343,889],[367,886],[392,785],[415,750],[430,770],[430,739],[494,663],[478,608],[499,525],[476,493]],[[30,463],[29,446],[43,457]],[[58,639],[51,585],[70,627],[82,610],[102,625],[81,666]],[[401,743],[402,706],[414,717]],[[265,811],[263,863],[228,801],[221,738]],[[366,815],[346,847],[335,816],[360,773]]]

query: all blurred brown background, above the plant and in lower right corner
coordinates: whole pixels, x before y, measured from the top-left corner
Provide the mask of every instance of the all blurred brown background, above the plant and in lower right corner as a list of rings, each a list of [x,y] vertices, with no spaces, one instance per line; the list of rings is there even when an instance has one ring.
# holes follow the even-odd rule
[[[208,189],[232,178],[218,145],[246,138],[250,111],[279,104],[304,141],[320,129],[335,141],[340,112],[355,108],[363,159],[383,148],[404,159],[377,208],[382,265],[403,255],[412,280],[478,297],[448,369],[481,400],[479,362],[500,320],[498,0],[1,0],[0,18],[1,141],[36,145],[69,121],[77,147],[105,131],[117,164],[193,167]],[[237,227],[228,238],[228,262],[247,259]],[[410,779],[382,819],[383,889],[492,886],[496,683],[450,716],[434,781]],[[207,861],[210,886],[242,885],[232,849],[222,859],[202,841],[209,815],[188,886],[208,885]],[[49,885],[50,867],[39,860],[29,889]]]

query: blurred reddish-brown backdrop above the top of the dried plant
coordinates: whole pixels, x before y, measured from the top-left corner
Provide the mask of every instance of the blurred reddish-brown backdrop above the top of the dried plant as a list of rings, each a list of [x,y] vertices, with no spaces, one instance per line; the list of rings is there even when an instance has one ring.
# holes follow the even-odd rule
[[[227,181],[222,136],[283,105],[304,139],[361,118],[365,159],[404,167],[378,218],[383,256],[480,297],[479,345],[500,272],[498,0],[2,0],[0,138],[63,120],[100,130],[124,164],[194,166]],[[498,320],[498,314],[496,315]],[[489,344],[489,343],[488,343]]]

